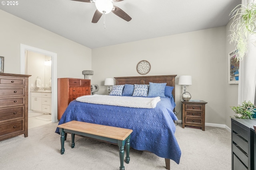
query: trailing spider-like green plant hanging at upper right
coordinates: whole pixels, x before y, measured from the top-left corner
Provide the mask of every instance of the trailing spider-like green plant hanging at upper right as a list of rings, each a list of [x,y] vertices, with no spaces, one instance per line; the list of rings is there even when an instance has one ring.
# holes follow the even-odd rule
[[[238,5],[230,15],[234,19],[230,26],[230,43],[236,43],[236,59],[241,61],[248,51],[248,43],[256,43],[248,42],[248,35],[256,34],[256,4]]]

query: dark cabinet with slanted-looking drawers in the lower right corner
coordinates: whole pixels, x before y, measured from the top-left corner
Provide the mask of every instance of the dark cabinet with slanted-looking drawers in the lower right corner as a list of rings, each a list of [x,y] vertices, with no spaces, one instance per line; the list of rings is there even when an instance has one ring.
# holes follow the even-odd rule
[[[256,120],[231,119],[232,170],[256,170]]]

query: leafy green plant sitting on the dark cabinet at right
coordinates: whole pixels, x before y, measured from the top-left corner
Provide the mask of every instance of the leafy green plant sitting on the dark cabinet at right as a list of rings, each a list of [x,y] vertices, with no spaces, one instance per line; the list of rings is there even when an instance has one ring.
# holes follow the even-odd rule
[[[236,115],[231,118],[240,118],[240,119],[253,119],[256,118],[256,106],[250,101],[242,102],[242,106],[231,106],[231,109],[235,112]]]

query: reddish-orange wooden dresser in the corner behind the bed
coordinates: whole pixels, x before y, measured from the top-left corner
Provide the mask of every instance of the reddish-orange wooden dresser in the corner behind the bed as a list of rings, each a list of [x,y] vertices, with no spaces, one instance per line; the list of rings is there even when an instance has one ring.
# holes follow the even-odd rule
[[[91,94],[91,80],[79,78],[58,78],[58,120],[68,104],[80,96]]]

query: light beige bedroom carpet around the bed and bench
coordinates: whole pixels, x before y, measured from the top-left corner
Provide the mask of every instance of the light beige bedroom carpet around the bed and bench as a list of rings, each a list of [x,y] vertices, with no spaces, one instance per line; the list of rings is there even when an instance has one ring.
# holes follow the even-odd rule
[[[60,135],[54,133],[58,123],[28,130],[24,135],[0,141],[0,169],[4,170],[119,170],[116,145],[75,137],[65,141],[60,154]],[[231,134],[224,128],[208,127],[205,131],[176,126],[176,139],[182,151],[180,164],[171,160],[171,170],[230,170]],[[126,170],[165,170],[164,158],[131,149]]]

